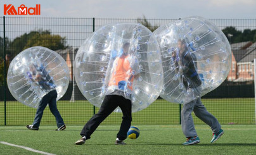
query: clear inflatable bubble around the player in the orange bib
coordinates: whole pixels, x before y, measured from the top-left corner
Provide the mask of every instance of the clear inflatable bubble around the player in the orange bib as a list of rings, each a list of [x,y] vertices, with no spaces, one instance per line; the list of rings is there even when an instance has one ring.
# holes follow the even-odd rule
[[[106,95],[116,94],[131,99],[132,112],[140,111],[157,99],[163,87],[157,39],[139,23],[105,25],[80,46],[74,75],[94,106],[100,107]]]

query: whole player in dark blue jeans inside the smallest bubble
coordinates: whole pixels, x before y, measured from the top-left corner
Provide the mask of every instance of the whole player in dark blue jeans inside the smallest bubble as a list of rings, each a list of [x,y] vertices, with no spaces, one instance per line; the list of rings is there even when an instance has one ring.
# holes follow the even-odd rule
[[[56,118],[57,129],[56,130],[65,130],[66,125],[64,124],[63,119],[61,118],[60,112],[57,109],[56,99],[57,99],[57,91],[56,85],[54,85],[53,80],[49,76],[48,72],[45,70],[44,66],[38,67],[35,64],[29,66],[29,71],[27,72],[28,77],[32,82],[35,82],[42,91],[48,92],[44,97],[42,97],[39,102],[39,106],[37,108],[37,112],[35,113],[34,122],[32,125],[27,125],[27,128],[30,130],[39,130],[39,125],[42,119],[42,114],[44,113],[44,109],[47,104],[51,110],[51,113]]]

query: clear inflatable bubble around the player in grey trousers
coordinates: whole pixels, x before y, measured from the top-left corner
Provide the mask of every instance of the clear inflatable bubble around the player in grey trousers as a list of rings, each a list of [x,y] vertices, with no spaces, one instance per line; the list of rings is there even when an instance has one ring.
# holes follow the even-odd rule
[[[162,55],[163,99],[190,102],[226,79],[231,67],[231,47],[214,23],[191,16],[163,25],[153,34]]]

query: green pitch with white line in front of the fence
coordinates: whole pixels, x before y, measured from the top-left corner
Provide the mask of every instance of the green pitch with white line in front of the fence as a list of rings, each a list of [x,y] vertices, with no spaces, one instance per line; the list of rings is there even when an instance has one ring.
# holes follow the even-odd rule
[[[141,135],[136,140],[127,139],[125,146],[115,146],[118,125],[100,125],[90,140],[82,146],[74,143],[80,139],[81,125],[67,125],[64,131],[42,125],[38,131],[25,126],[0,127],[0,154],[39,154],[8,142],[51,154],[255,154],[255,125],[223,125],[224,135],[210,144],[212,132],[207,125],[196,125],[201,142],[182,146],[185,141],[180,125],[138,125]]]

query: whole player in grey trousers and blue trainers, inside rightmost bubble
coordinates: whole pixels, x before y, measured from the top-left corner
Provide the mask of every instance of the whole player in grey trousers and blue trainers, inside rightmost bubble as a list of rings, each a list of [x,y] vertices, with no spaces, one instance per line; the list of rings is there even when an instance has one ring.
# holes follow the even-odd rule
[[[176,73],[180,75],[179,81],[182,82],[182,87],[186,93],[186,99],[184,99],[181,110],[182,132],[187,138],[183,145],[197,144],[200,142],[191,115],[193,111],[200,120],[210,126],[213,132],[210,142],[213,143],[223,135],[224,131],[221,129],[219,121],[202,104],[200,97],[202,81],[196,71],[196,56],[189,51],[190,49],[193,51],[193,47],[188,48],[186,46],[185,39],[179,39],[178,50],[172,53],[172,58],[176,62]],[[191,101],[191,99],[193,100]]]

